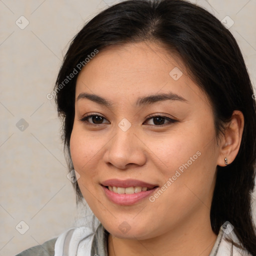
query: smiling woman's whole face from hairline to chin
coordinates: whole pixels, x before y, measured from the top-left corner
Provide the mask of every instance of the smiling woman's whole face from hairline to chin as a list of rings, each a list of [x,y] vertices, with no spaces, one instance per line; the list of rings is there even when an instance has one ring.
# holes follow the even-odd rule
[[[130,43],[99,51],[78,75],[71,158],[86,202],[115,236],[210,223],[212,109],[181,64],[157,44]]]

